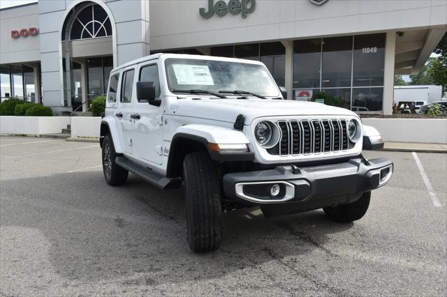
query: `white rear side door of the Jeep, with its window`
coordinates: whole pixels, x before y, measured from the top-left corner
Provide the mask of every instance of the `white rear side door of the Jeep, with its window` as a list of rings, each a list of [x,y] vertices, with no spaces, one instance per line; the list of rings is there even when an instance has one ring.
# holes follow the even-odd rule
[[[121,92],[119,94],[119,112],[115,114],[118,127],[122,135],[122,144],[124,153],[133,153],[132,139],[132,96],[133,96],[133,78],[135,77],[135,69],[125,70],[121,79]]]

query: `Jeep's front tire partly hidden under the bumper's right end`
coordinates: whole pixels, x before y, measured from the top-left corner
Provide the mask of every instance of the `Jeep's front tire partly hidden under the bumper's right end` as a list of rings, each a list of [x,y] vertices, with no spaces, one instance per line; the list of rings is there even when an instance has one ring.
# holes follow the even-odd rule
[[[365,215],[370,199],[371,192],[365,192],[360,199],[353,203],[323,208],[323,211],[336,222],[353,222],[360,220]]]

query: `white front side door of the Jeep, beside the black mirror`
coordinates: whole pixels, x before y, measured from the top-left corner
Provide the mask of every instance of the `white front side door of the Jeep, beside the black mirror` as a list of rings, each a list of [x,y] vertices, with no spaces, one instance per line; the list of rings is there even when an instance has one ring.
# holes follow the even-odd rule
[[[154,82],[156,100],[161,99],[159,68],[156,63],[152,62],[141,66],[138,81]],[[163,162],[163,121],[161,117],[163,107],[149,105],[147,100],[137,99],[134,102],[133,114],[140,117],[133,123],[134,155],[139,159],[160,165]]]

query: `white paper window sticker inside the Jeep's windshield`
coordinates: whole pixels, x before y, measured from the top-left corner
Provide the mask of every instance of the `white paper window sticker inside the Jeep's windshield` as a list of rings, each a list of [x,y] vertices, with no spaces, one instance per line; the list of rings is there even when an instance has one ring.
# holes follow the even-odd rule
[[[206,65],[173,64],[177,84],[214,86],[210,68]]]

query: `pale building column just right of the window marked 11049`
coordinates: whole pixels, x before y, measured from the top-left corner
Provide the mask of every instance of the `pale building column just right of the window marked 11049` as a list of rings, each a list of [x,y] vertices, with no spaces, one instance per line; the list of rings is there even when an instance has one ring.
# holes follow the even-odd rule
[[[383,71],[383,114],[393,114],[394,104],[394,59],[396,52],[396,32],[386,33],[385,69]]]

